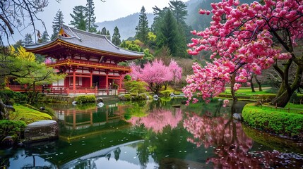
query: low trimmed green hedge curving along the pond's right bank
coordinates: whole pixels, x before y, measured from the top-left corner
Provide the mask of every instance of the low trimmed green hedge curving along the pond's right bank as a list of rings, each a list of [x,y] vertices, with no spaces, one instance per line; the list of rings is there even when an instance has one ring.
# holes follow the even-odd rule
[[[287,137],[303,138],[303,115],[279,111],[266,111],[261,106],[246,104],[242,111],[244,123],[259,130]]]

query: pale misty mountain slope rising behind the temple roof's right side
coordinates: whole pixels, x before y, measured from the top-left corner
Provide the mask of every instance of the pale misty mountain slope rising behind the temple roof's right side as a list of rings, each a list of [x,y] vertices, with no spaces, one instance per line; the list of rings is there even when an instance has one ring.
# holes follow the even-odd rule
[[[154,15],[152,13],[146,13],[148,18],[148,26],[152,25]],[[121,35],[121,40],[126,40],[129,37],[134,37],[136,35],[136,26],[139,23],[139,13],[133,13],[124,18],[119,18],[117,20],[104,21],[102,23],[96,23],[97,30],[102,30],[103,27],[106,27],[106,30],[109,30],[109,33],[112,37],[114,33],[114,27],[118,27],[119,33]]]

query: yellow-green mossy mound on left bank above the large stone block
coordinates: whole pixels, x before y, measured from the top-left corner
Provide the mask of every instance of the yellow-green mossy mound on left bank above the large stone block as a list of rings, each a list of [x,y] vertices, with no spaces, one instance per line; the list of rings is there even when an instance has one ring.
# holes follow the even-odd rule
[[[10,113],[9,118],[11,120],[23,120],[26,124],[39,120],[52,120],[52,117],[47,113],[42,113],[19,104],[16,104],[13,108],[16,111]]]

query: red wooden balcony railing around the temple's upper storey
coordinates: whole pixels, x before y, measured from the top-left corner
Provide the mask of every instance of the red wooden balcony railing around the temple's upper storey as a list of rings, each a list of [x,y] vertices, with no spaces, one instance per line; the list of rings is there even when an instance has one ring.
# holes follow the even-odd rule
[[[123,66],[123,65],[115,65],[110,63],[97,63],[97,62],[89,62],[89,61],[78,61],[78,60],[61,60],[57,61],[55,63],[47,63],[47,66],[56,66],[56,65],[82,65],[89,68],[107,68],[111,70],[126,70],[131,71],[131,68],[129,66]]]

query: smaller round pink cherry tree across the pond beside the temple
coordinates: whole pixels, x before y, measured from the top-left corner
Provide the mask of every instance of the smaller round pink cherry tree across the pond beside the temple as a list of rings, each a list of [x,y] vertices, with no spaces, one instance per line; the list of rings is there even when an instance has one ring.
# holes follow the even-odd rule
[[[152,63],[146,63],[144,68],[141,65],[131,65],[131,77],[134,80],[143,80],[148,84],[148,88],[158,94],[165,82],[181,79],[182,68],[172,60],[172,65],[166,66],[162,60],[155,59]]]

